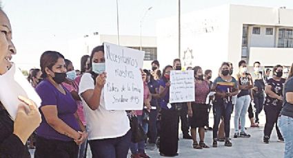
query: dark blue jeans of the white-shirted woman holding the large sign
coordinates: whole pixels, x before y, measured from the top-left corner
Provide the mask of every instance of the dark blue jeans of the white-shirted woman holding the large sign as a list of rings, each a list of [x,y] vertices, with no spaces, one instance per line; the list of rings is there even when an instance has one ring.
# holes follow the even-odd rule
[[[131,142],[131,131],[122,137],[90,140],[93,158],[125,158]]]

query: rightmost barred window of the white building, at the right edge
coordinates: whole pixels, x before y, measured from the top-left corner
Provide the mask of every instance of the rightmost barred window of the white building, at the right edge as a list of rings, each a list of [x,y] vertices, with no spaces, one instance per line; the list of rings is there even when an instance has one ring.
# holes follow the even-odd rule
[[[279,29],[278,47],[293,47],[293,29]]]

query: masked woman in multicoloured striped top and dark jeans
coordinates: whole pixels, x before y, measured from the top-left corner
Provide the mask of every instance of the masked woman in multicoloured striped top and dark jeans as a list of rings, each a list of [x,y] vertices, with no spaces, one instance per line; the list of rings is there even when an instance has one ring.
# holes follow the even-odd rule
[[[221,117],[223,116],[225,128],[225,146],[232,146],[230,142],[230,118],[233,109],[232,97],[239,92],[238,84],[235,78],[230,75],[229,63],[221,65],[221,76],[214,80],[212,84],[212,91],[215,91],[214,100],[214,128],[213,128],[213,143],[212,146],[216,148],[217,136]]]

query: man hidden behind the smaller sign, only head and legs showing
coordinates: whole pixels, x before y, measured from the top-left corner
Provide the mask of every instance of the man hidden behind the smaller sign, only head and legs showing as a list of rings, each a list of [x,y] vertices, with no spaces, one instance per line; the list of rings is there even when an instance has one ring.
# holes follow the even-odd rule
[[[179,58],[174,59],[173,61],[173,68],[175,70],[181,70],[181,60]],[[188,106],[186,102],[179,102],[176,103],[177,105],[181,106],[180,111],[180,120],[181,120],[181,131],[183,133],[183,139],[192,139],[191,135],[189,134],[189,126],[188,126]]]

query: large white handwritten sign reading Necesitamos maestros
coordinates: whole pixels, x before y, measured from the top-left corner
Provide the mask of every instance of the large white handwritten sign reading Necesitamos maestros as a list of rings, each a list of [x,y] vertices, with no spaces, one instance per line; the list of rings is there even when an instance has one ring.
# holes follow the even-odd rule
[[[143,80],[140,69],[143,67],[144,52],[110,43],[104,43],[104,47],[107,72],[105,109],[142,110]]]

